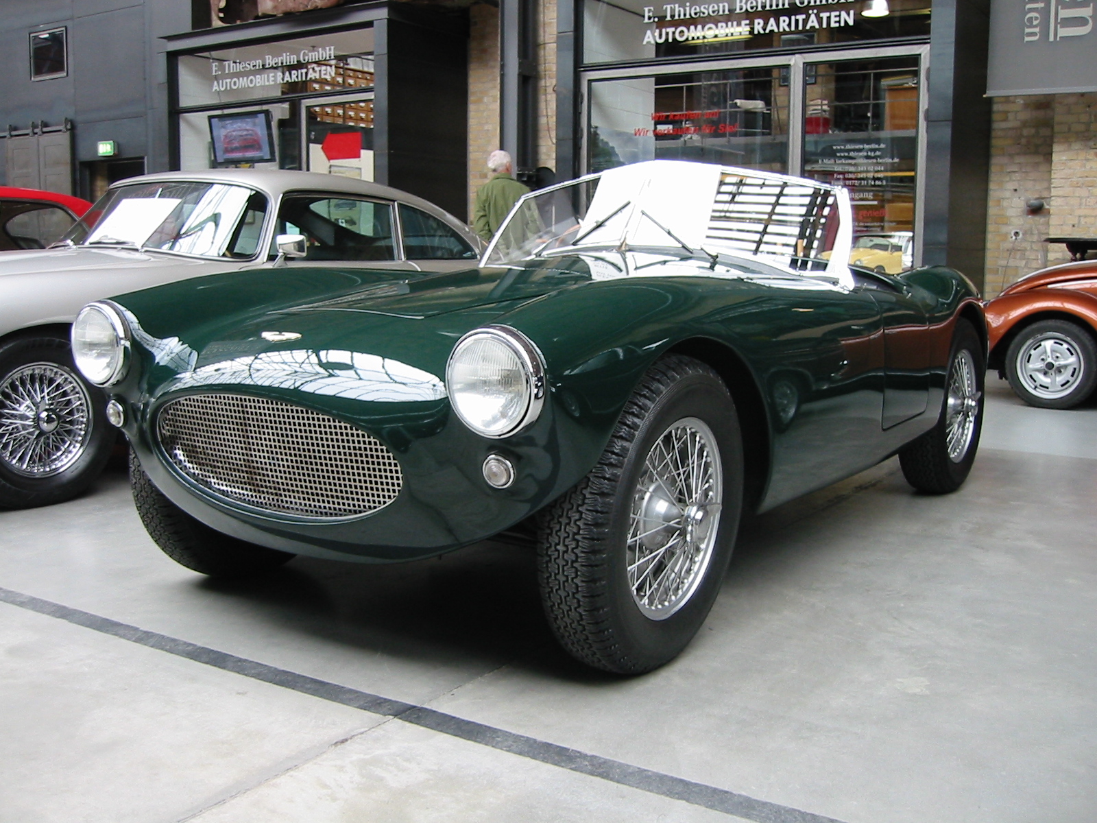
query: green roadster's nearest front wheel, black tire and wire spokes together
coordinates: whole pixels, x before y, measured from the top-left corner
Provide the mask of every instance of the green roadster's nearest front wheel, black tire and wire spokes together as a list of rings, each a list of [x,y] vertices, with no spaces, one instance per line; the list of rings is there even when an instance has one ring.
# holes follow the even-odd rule
[[[598,464],[540,518],[541,595],[561,644],[617,674],[674,659],[720,591],[742,498],[726,386],[700,361],[664,358]]]

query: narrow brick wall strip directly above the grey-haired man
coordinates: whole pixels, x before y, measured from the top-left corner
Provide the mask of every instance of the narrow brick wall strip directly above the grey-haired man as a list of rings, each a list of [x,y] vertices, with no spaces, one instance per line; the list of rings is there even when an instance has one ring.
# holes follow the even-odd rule
[[[487,156],[499,148],[499,10],[468,9],[468,214],[476,190],[487,182]]]

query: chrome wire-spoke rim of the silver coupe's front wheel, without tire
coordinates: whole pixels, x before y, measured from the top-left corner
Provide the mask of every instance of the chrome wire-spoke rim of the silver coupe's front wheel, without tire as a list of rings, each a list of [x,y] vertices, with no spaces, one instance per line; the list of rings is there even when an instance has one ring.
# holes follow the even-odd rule
[[[27,363],[0,382],[0,462],[24,477],[49,477],[88,448],[91,401],[56,363]]]

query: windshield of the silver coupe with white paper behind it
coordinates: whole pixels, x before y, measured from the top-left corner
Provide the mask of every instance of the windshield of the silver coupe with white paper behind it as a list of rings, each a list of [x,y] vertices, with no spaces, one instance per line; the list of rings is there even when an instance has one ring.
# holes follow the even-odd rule
[[[134,183],[104,194],[61,241],[247,259],[265,215],[265,195],[244,185]]]

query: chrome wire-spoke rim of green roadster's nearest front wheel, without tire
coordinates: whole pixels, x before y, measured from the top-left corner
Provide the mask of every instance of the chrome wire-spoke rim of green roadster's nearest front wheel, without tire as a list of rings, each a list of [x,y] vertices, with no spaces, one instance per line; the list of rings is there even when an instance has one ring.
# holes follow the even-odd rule
[[[672,424],[644,460],[629,520],[629,588],[646,617],[666,620],[704,579],[722,499],[723,471],[712,429],[695,417]]]

